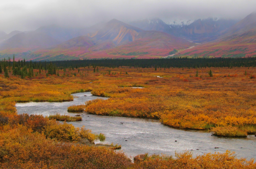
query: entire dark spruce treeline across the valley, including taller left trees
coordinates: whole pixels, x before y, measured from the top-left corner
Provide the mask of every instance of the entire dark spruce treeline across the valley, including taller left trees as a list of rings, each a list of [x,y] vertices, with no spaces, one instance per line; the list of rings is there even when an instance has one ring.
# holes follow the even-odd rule
[[[203,67],[255,67],[256,58],[168,58],[168,59],[101,59],[65,61],[15,61],[8,58],[0,61],[0,73],[13,70],[14,75],[31,76],[33,69],[56,74],[58,69],[78,67],[140,67],[140,68],[203,68]]]

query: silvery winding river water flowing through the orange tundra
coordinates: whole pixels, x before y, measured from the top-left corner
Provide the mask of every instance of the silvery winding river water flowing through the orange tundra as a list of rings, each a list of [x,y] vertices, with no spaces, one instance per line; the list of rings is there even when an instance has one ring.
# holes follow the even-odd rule
[[[28,102],[16,103],[19,114],[42,114],[48,116],[54,113],[69,114],[67,107],[84,104],[85,101],[100,97],[92,96],[90,92],[72,94],[71,102]],[[86,96],[84,96],[86,95]],[[107,98],[101,98],[107,99]],[[203,153],[224,153],[226,150],[236,152],[237,157],[246,157],[248,160],[256,157],[256,137],[222,138],[211,136],[211,133],[193,130],[178,130],[162,125],[158,120],[110,117],[84,114],[82,121],[71,122],[76,127],[85,126],[94,133],[104,133],[106,140],[103,144],[120,144],[127,156],[137,154],[167,154],[189,150],[193,156]],[[175,141],[177,140],[177,141]],[[215,149],[219,147],[219,149]],[[198,150],[197,150],[198,149]]]

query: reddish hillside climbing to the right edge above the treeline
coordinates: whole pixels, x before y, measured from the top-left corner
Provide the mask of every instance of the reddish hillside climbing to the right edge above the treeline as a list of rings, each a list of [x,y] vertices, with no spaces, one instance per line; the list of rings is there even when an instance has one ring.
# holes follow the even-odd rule
[[[213,42],[184,50],[174,57],[256,57],[256,13],[228,29]]]

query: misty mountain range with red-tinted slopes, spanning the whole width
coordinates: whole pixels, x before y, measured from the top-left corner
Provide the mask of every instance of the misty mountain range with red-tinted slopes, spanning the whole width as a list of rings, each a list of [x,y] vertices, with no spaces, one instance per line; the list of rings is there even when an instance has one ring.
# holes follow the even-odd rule
[[[89,28],[51,25],[35,31],[0,32],[0,58],[71,60],[95,58],[256,56],[256,13],[244,19],[161,19],[124,23],[112,19]]]

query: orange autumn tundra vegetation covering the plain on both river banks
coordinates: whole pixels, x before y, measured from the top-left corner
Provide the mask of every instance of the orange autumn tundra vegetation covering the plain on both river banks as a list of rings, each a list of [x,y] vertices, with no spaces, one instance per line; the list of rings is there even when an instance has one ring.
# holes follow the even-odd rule
[[[4,69],[0,74],[0,168],[256,168],[253,160],[237,159],[228,151],[197,157],[186,151],[176,153],[176,158],[145,155],[132,163],[113,148],[82,144],[82,140],[104,140],[102,134],[60,123],[59,117],[17,115],[15,108],[16,102],[72,101],[70,94],[90,91],[109,99],[69,109],[154,118],[170,127],[247,137],[256,133],[255,67],[76,68],[10,60],[0,65]],[[144,88],[131,88],[138,86]]]

